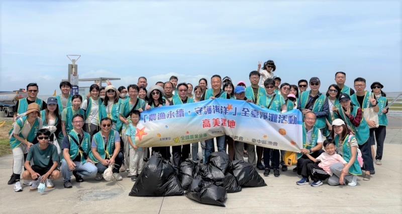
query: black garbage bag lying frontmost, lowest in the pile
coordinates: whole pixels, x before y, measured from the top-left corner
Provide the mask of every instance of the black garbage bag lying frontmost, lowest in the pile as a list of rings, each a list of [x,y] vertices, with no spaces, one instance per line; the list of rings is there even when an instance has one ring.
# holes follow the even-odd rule
[[[213,182],[195,177],[188,187],[188,192],[185,196],[200,203],[225,206],[227,192],[222,186],[217,186]]]

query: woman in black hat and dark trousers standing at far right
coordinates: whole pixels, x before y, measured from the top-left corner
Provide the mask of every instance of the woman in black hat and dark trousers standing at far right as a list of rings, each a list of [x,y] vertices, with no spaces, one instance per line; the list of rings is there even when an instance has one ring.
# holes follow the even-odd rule
[[[375,98],[378,102],[379,112],[378,112],[378,127],[370,129],[370,139],[377,142],[377,152],[375,154],[375,164],[381,165],[382,159],[382,151],[384,149],[384,140],[386,135],[386,126],[388,126],[388,119],[386,118],[386,114],[388,113],[388,108],[385,109],[385,106],[388,105],[388,101],[386,99],[386,94],[382,91],[384,86],[380,82],[373,82],[371,84],[371,92],[374,93]]]

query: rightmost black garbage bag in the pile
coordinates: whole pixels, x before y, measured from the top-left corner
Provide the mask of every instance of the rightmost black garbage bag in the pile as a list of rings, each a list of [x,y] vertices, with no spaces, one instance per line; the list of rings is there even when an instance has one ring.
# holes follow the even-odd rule
[[[229,171],[236,177],[240,186],[259,187],[267,185],[254,166],[245,161],[232,161]]]

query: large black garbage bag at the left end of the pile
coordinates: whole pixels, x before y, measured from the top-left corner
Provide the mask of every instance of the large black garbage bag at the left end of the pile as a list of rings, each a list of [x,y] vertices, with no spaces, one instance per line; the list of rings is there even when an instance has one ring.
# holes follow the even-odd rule
[[[133,185],[130,196],[171,196],[184,194],[172,164],[155,154],[149,158]]]

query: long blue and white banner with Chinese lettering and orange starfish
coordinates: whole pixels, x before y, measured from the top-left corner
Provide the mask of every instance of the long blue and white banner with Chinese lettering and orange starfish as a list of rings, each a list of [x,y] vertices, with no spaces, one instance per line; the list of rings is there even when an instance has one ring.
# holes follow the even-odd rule
[[[235,141],[299,152],[302,113],[280,114],[242,100],[209,99],[141,113],[139,147],[177,146],[228,135]]]

